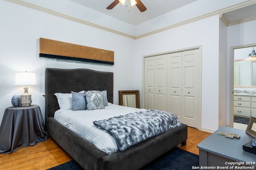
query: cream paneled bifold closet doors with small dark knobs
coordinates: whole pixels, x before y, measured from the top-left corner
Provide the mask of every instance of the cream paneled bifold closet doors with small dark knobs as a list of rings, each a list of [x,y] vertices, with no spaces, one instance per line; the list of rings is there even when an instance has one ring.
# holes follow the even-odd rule
[[[201,95],[199,49],[144,58],[144,109],[173,113],[198,128]]]

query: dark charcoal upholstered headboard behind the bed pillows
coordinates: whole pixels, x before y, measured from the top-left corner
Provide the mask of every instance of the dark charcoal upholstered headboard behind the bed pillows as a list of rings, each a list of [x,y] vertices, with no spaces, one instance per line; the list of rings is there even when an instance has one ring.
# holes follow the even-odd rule
[[[114,73],[90,69],[46,69],[45,76],[45,117],[54,117],[60,109],[54,93],[71,91],[107,91],[108,102],[113,103]]]

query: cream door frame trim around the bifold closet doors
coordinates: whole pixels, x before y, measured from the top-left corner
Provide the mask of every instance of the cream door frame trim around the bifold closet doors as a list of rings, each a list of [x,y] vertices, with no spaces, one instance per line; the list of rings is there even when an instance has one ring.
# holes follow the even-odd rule
[[[169,53],[177,53],[177,52],[188,51],[188,50],[192,50],[192,49],[199,49],[198,129],[201,130],[202,129],[202,45],[197,45],[197,46],[187,47],[187,48],[182,48],[182,49],[175,49],[175,50],[171,50],[171,51],[165,51],[165,52],[154,53],[154,54],[142,56],[142,108],[144,108],[144,59],[146,57],[164,55],[164,54],[169,54]]]

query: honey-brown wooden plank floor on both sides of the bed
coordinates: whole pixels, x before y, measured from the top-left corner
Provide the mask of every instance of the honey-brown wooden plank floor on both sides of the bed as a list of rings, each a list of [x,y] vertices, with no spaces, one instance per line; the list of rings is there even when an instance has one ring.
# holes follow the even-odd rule
[[[210,134],[188,127],[187,145],[178,147],[199,154],[196,145]],[[20,147],[13,153],[0,154],[0,170],[46,170],[70,160],[72,158],[52,138],[49,138],[35,146]]]

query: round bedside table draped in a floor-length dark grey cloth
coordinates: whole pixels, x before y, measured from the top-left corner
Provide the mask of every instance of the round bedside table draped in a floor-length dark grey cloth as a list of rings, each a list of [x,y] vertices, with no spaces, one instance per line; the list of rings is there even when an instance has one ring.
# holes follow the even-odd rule
[[[44,121],[38,105],[8,107],[4,111],[0,127],[0,153],[8,154],[18,147],[34,146],[46,141]]]

